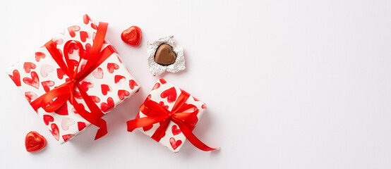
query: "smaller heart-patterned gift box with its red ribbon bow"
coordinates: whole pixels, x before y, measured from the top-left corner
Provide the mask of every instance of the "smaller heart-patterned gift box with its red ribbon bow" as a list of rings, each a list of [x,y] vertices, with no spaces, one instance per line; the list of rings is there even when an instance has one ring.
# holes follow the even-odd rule
[[[127,122],[128,131],[138,128],[174,153],[186,139],[203,151],[215,150],[192,133],[205,108],[205,104],[191,94],[160,79],[140,106],[136,119]]]

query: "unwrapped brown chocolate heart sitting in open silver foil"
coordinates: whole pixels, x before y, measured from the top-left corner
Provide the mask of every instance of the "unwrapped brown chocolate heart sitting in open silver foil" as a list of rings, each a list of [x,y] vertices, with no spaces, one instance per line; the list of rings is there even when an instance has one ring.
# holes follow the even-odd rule
[[[172,46],[162,44],[157,48],[155,62],[160,65],[171,65],[175,62],[176,54],[172,51]]]

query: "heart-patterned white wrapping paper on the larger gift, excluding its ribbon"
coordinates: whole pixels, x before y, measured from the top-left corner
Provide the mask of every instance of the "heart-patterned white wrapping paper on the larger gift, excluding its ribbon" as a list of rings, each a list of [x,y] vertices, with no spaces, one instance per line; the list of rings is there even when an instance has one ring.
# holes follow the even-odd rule
[[[76,24],[71,25],[52,39],[53,44],[62,55],[64,53],[68,54],[69,63],[67,62],[67,64],[69,65],[67,66],[76,67],[77,73],[80,73],[85,64],[88,63],[88,54],[94,46],[99,26],[93,23],[88,15],[84,15]],[[66,42],[72,40],[80,42],[83,46],[83,56],[79,56],[81,49],[76,43],[68,44],[67,49],[63,50]],[[109,41],[105,38],[102,41],[102,51],[109,49],[112,52],[111,55],[98,65],[92,73],[80,80],[78,84],[104,115],[138,92],[140,86]],[[29,103],[69,80],[69,77],[45,46],[40,47],[35,53],[12,65],[6,72]],[[73,96],[77,103],[86,111],[90,111],[78,87],[74,88]],[[20,113],[20,115],[23,115],[23,113]],[[44,108],[38,108],[37,115],[61,144],[91,125],[76,111],[70,100],[54,112],[47,112]]]

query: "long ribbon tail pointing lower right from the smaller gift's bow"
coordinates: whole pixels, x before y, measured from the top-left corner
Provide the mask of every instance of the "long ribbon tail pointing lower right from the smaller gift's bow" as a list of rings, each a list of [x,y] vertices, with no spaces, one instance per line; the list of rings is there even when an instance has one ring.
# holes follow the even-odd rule
[[[191,144],[193,144],[193,146],[197,147],[198,149],[202,151],[213,151],[213,150],[220,149],[220,148],[211,148],[210,146],[207,146],[206,144],[201,142],[200,139],[195,137],[193,132],[191,132],[191,130],[188,129],[188,127],[186,127],[186,125],[184,125],[180,121],[174,119],[172,121],[176,123],[176,125],[178,125],[179,129],[181,129],[182,133],[184,133],[186,139],[188,139],[188,141],[191,142]]]

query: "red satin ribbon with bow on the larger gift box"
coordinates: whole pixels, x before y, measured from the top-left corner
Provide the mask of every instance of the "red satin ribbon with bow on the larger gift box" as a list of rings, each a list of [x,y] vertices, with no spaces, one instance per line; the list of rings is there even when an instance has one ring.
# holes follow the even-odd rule
[[[83,80],[86,76],[90,75],[93,70],[95,70],[104,60],[106,60],[109,56],[114,53],[114,49],[112,46],[107,46],[102,51],[102,46],[104,42],[104,37],[106,36],[108,23],[99,23],[97,27],[97,34],[95,36],[95,40],[92,44],[92,48],[90,54],[88,56],[88,61],[85,63],[85,66],[80,72],[78,72],[78,67],[80,65],[73,66],[68,56],[68,46],[71,43],[75,43],[79,47],[79,56],[80,60],[84,56],[85,49],[83,48],[83,44],[78,42],[77,40],[69,40],[64,44],[64,57],[57,49],[56,43],[52,40],[47,42],[44,46],[47,48],[49,53],[54,58],[54,61],[60,66],[61,70],[64,71],[66,75],[68,75],[69,79],[64,83],[50,90],[46,94],[43,94],[39,98],[35,99],[35,101],[31,102],[32,108],[35,111],[38,108],[43,108],[44,111],[49,113],[57,111],[61,106],[66,104],[66,101],[73,105],[79,115],[81,115],[85,120],[90,122],[92,125],[100,127],[97,130],[97,134],[95,139],[99,139],[107,134],[107,125],[106,121],[101,117],[104,115],[100,108],[95,104],[94,101],[88,96],[83,87],[80,85],[80,81]],[[64,62],[64,58],[66,63]],[[76,68],[75,68],[76,67]],[[91,112],[85,110],[83,104],[78,104],[75,98],[75,87],[78,87],[81,96],[83,97],[85,104],[88,106]]]

